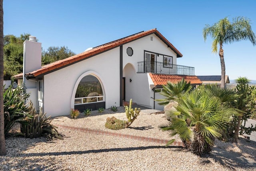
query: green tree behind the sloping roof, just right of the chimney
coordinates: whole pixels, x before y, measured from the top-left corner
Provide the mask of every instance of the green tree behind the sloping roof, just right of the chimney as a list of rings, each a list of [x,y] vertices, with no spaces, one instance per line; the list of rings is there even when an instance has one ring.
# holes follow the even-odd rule
[[[68,47],[51,46],[47,49],[47,51],[43,50],[42,52],[42,65],[50,64],[58,60],[63,60],[74,55],[75,53],[68,49]]]

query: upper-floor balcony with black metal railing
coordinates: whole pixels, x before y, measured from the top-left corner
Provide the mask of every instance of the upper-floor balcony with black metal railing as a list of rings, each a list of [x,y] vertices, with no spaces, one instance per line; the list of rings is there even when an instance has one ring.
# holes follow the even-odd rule
[[[175,75],[195,75],[195,68],[175,64],[166,64],[163,62],[142,61],[138,62],[138,73],[155,73],[155,74],[175,74]]]

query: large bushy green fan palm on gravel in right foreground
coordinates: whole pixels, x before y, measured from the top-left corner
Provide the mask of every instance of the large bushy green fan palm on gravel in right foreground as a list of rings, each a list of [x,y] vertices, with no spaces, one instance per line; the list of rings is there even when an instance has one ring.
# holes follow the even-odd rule
[[[209,153],[214,139],[221,137],[223,128],[231,121],[233,108],[222,105],[218,97],[203,87],[180,94],[178,101],[169,113],[170,121],[160,128],[170,131],[171,136],[178,134],[185,147],[192,144],[197,155]],[[174,139],[168,144],[172,142]]]

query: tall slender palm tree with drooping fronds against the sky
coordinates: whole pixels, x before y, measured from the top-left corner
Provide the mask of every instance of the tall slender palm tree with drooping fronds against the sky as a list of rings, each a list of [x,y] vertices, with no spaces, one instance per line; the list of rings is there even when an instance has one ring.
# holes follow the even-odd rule
[[[228,18],[221,19],[212,26],[206,24],[203,29],[204,41],[210,35],[213,39],[212,52],[217,53],[218,45],[220,46],[219,56],[221,65],[221,87],[225,88],[225,62],[223,44],[231,44],[241,40],[250,40],[253,46],[256,45],[255,35],[250,26],[250,19],[237,17],[230,22]]]

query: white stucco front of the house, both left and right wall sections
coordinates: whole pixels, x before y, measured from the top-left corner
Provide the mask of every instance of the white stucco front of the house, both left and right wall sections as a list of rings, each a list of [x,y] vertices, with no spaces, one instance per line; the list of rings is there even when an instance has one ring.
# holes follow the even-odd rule
[[[153,41],[150,40],[153,36]],[[126,49],[131,47],[133,55]],[[144,50],[173,57],[176,54],[155,34],[145,36],[123,45],[123,77],[126,78],[126,100],[153,108],[152,83],[148,73],[137,73],[137,62],[144,61]],[[163,62],[163,56],[156,57]],[[92,74],[102,84],[106,108],[120,106],[120,47],[114,48],[92,58],[62,68],[44,76],[44,112],[47,115],[68,115],[74,108],[74,97],[80,80]],[[132,82],[130,82],[132,79]]]

